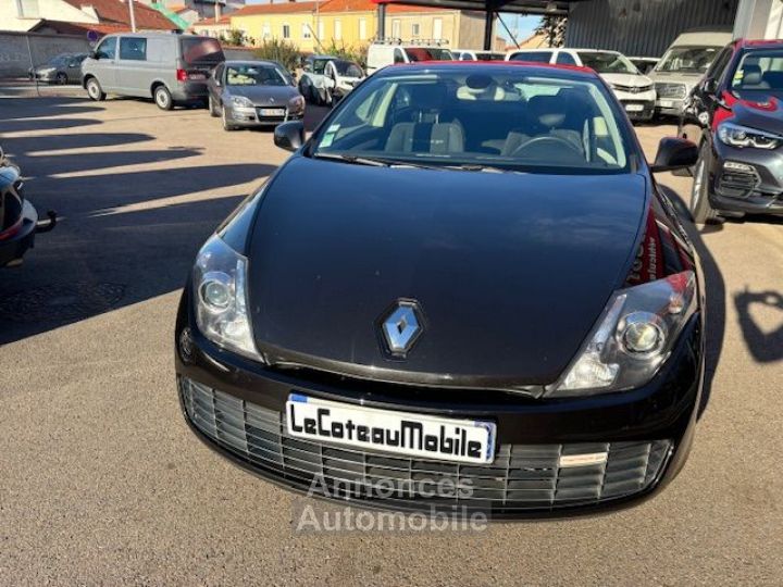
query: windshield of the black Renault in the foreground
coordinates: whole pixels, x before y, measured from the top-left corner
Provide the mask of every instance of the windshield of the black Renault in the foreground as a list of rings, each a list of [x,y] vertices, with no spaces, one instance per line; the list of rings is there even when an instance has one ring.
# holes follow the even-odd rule
[[[370,77],[315,134],[311,154],[493,171],[627,171],[627,130],[598,80],[513,66],[450,70]]]

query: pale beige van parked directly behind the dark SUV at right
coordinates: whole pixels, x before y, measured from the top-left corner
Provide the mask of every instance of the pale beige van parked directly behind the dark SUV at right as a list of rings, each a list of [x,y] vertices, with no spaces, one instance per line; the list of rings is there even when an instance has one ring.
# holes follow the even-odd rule
[[[698,28],[680,35],[649,77],[656,86],[656,114],[680,116],[685,97],[732,40],[731,29]]]

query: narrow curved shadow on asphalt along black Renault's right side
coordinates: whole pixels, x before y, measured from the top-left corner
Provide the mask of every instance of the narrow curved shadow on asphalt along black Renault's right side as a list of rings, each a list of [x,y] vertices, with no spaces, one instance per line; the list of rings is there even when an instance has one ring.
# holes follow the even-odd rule
[[[687,232],[691,241],[696,249],[701,264],[701,275],[705,280],[707,296],[707,325],[706,325],[706,357],[705,357],[705,385],[701,392],[698,416],[701,417],[707,410],[712,394],[712,379],[714,378],[718,361],[723,350],[723,338],[725,337],[725,282],[712,257],[709,247],[704,241],[704,235],[709,230],[699,230],[691,220],[691,212],[680,195],[672,188],[658,184],[662,191],[671,199],[681,215],[682,224]]]

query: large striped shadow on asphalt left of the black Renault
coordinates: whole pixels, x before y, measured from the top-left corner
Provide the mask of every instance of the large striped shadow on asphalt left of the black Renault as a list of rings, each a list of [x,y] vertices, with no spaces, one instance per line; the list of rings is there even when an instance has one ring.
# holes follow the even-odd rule
[[[2,105],[13,101],[4,99]],[[23,108],[12,110],[18,118],[28,114]],[[42,109],[36,104],[30,112]],[[0,117],[0,133],[102,124],[72,118],[69,108],[46,116],[57,114],[64,117]],[[232,186],[260,183],[275,170],[238,163],[105,173],[110,167],[150,162],[181,161],[177,165],[182,165],[202,150],[139,150],[145,143],[158,146],[151,142],[154,137],[140,133],[2,136],[0,140],[30,178],[26,192],[39,213],[54,208],[61,218],[53,232],[36,239],[34,260],[0,270],[0,345],[181,289],[198,248],[247,196],[244,186],[241,190]],[[125,145],[132,150],[102,151]],[[83,151],[57,152],[66,149]],[[32,154],[37,151],[48,154]],[[91,170],[97,173],[57,176]],[[219,189],[228,195],[210,195]]]

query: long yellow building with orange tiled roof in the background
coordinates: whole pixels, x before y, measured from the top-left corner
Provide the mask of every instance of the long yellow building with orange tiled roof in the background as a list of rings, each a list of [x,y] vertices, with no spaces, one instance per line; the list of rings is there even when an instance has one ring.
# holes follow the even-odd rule
[[[303,52],[332,45],[359,47],[378,35],[377,4],[371,0],[324,0],[247,5],[229,15],[231,28],[252,45],[279,39]],[[386,37],[438,39],[450,47],[478,48],[484,34],[481,13],[396,4],[387,10]],[[222,23],[200,21],[194,30],[219,36]]]

